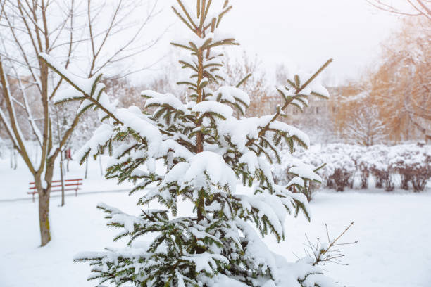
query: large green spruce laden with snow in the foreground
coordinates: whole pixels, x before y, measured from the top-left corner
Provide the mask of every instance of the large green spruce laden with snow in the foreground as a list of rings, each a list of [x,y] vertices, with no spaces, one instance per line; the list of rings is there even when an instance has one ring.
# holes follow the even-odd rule
[[[113,160],[106,177],[135,181],[131,192],[142,193],[139,205],[157,200],[164,206],[135,216],[99,204],[108,225],[121,229],[115,240],[130,241],[125,248],[82,253],[75,260],[90,262],[89,279],[116,286],[334,286],[311,257],[287,262],[261,240],[268,233],[277,241],[285,239],[283,223],[290,213],[302,211],[309,218],[303,194],[274,184],[271,154],[280,159],[282,142],[292,151],[308,146],[306,134],[277,119],[289,104],[304,106],[311,95],[327,97],[313,79],[330,61],[316,74],[296,75],[279,87],[284,105],[275,114],[233,117],[234,109],[244,113],[249,96],[237,87],[220,87],[220,48],[236,43],[217,30],[232,6],[225,1],[214,11],[212,1],[195,4],[193,10],[181,0],[173,6],[192,32],[189,39],[173,43],[189,53],[180,63],[190,75],[178,82],[189,88],[189,101],[143,91],[145,108],[155,108],[152,115],[135,106],[116,108],[100,75],[80,79],[41,55],[75,89],[58,101],[81,101],[78,113],[100,111],[104,123],[83,146],[82,161],[107,150]],[[215,85],[218,89],[208,88]],[[156,170],[161,164],[163,173]],[[313,170],[308,174],[314,177]],[[193,210],[180,210],[185,205],[180,200],[192,203]],[[178,215],[187,211],[189,216]],[[138,241],[147,234],[157,236],[143,247]]]

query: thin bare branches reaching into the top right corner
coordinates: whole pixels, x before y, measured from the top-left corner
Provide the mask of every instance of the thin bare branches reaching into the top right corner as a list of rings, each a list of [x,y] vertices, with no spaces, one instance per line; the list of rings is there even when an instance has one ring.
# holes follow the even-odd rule
[[[399,15],[419,16],[423,15],[431,20],[431,1],[429,0],[404,0],[394,5],[393,1],[367,0],[376,8]],[[402,7],[401,7],[402,6]]]

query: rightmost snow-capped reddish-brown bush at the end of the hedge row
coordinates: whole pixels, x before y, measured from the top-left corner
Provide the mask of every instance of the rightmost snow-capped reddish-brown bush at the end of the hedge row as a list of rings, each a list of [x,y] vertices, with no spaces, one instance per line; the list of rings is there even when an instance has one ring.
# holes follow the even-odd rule
[[[423,191],[431,179],[431,148],[414,144],[394,146],[389,164],[401,175],[402,189],[408,189],[411,183],[413,191]]]

